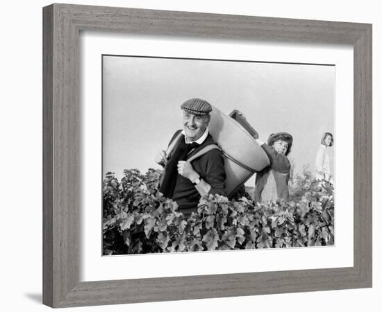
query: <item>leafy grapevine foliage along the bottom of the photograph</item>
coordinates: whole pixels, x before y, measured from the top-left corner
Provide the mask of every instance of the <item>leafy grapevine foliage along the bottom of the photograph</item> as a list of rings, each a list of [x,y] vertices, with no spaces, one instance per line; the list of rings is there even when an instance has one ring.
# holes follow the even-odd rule
[[[158,191],[160,171],[125,170],[103,180],[103,254],[288,248],[334,243],[333,185],[307,171],[292,200],[258,204],[250,196],[204,196],[184,218]]]

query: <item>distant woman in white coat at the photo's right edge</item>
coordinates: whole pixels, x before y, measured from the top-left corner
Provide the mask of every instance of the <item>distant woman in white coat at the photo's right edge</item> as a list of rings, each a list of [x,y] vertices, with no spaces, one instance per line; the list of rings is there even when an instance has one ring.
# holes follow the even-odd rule
[[[315,169],[316,179],[326,180],[333,184],[333,173],[331,173],[330,159],[328,154],[328,148],[333,146],[333,135],[330,132],[325,132],[322,136],[321,146],[317,150]]]

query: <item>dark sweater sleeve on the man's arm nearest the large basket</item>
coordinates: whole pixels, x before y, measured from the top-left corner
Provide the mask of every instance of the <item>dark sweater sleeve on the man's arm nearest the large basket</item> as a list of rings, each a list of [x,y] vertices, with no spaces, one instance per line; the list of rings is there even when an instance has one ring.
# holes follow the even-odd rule
[[[204,180],[210,184],[210,194],[226,196],[226,171],[224,168],[224,156],[220,150],[210,150],[206,157],[206,174]]]

